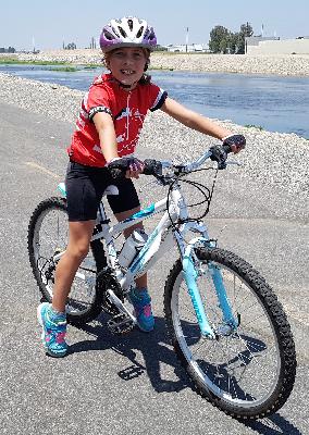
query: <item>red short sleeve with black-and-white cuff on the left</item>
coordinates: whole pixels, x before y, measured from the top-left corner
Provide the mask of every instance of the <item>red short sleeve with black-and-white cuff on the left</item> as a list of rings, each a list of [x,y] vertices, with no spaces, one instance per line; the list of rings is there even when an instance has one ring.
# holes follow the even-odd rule
[[[112,111],[110,107],[109,92],[102,83],[94,82],[89,89],[87,100],[85,101],[85,110],[88,113],[89,121],[98,112],[109,113],[112,116]]]

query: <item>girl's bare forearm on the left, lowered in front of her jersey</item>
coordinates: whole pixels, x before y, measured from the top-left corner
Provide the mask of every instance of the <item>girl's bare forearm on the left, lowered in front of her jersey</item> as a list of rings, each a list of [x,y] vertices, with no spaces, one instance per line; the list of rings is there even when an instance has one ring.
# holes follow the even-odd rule
[[[97,128],[100,147],[107,162],[118,158],[118,144],[114,123],[110,114],[98,112],[94,116],[94,124]]]

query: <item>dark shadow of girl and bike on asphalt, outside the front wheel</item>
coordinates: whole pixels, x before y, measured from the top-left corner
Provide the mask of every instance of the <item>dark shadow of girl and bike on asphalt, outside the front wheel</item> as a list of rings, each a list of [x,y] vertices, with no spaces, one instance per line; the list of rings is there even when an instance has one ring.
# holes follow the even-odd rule
[[[102,316],[98,318],[95,325],[87,324],[79,328],[96,337],[96,340],[76,343],[70,347],[70,353],[112,349],[114,352],[127,358],[129,362],[125,369],[118,373],[125,382],[138,377],[146,372],[157,393],[180,391],[187,387],[194,389],[193,382],[182,369],[180,361],[170,346],[164,319],[156,318],[156,328],[148,334],[136,328],[124,335],[112,335]],[[190,337],[193,338],[193,335]],[[196,339],[198,339],[198,336],[196,336]],[[145,365],[137,361],[135,350],[143,353]],[[162,378],[160,363],[173,368],[176,381]],[[279,413],[264,420],[239,423],[261,435],[301,435],[297,427]]]

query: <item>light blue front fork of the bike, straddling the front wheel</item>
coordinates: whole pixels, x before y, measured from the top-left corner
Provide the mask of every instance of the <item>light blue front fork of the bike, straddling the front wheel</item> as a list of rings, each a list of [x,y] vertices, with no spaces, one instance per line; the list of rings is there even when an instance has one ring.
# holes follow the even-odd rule
[[[189,296],[191,298],[201,334],[208,338],[214,339],[218,332],[213,331],[208,321],[201,296],[197,286],[198,271],[196,270],[193,257],[193,250],[197,246],[197,244],[208,244],[209,246],[209,241],[203,238],[194,239],[191,240],[191,243],[188,244],[183,257],[184,278],[188,288]],[[221,271],[213,263],[208,264],[208,270],[215,288],[219,304],[223,314],[223,322],[225,323],[225,325],[228,325],[230,327],[235,330],[238,326],[238,322],[235,320],[232,313]],[[205,290],[207,291],[207,288]]]

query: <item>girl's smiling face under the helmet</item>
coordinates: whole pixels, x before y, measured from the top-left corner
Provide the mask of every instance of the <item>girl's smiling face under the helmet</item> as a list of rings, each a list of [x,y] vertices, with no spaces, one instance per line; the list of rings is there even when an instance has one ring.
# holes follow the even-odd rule
[[[143,48],[123,47],[109,53],[106,60],[112,75],[122,84],[135,88],[144,74],[147,57]]]

